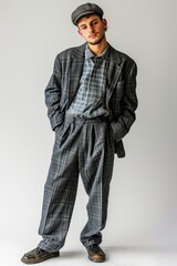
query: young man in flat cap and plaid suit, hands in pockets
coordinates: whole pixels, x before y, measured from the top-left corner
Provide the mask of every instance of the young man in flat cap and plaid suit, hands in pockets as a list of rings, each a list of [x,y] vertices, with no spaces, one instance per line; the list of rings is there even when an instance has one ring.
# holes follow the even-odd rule
[[[101,231],[105,227],[114,154],[124,157],[122,139],[135,121],[136,64],[105,37],[103,10],[85,3],[72,22],[86,43],[58,54],[45,89],[55,142],[44,187],[38,247],[22,257],[35,264],[59,256],[69,231],[79,174],[88,195],[88,221],[81,233],[88,258],[101,263]]]

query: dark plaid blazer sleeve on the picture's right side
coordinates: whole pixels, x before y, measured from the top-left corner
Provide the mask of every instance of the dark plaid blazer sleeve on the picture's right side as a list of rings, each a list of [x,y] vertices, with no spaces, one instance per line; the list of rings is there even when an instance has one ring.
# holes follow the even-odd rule
[[[119,103],[121,114],[117,120],[111,123],[116,142],[128,133],[136,119],[135,110],[138,104],[136,96],[136,74],[137,65],[134,61],[131,61],[124,79],[123,96]]]

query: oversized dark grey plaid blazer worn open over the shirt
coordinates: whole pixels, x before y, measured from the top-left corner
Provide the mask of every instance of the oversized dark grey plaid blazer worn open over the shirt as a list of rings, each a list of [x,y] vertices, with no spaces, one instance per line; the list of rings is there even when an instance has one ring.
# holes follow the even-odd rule
[[[80,84],[84,64],[85,44],[59,53],[54,61],[52,76],[45,89],[45,103],[52,130],[64,120]],[[105,108],[111,113],[111,129],[115,137],[115,152],[125,156],[122,139],[134,123],[137,109],[136,74],[133,59],[110,47],[107,60]]]

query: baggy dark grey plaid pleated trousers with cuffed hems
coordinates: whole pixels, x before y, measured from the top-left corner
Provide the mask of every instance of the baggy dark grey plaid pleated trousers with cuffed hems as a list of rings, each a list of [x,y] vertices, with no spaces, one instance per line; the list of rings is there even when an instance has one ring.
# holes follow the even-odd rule
[[[59,250],[65,242],[74,207],[79,174],[88,195],[88,221],[81,233],[85,247],[102,242],[110,182],[114,164],[114,139],[107,122],[77,121],[66,115],[56,127],[53,154],[44,185],[39,247]]]

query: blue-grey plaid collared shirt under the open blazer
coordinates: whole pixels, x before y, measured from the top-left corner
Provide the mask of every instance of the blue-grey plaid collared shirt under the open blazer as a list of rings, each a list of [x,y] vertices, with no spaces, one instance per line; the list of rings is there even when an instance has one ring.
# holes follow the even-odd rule
[[[67,113],[87,119],[108,115],[104,106],[107,53],[108,48],[96,58],[86,45],[80,88]]]

